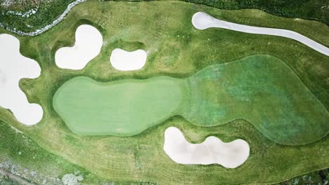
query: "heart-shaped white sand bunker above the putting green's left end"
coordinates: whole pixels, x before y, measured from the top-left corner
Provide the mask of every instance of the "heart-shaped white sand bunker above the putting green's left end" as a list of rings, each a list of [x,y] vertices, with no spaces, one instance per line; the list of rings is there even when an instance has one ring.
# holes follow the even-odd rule
[[[103,45],[101,32],[90,25],[81,25],[75,32],[75,46],[57,50],[55,61],[63,69],[83,69],[100,52]]]

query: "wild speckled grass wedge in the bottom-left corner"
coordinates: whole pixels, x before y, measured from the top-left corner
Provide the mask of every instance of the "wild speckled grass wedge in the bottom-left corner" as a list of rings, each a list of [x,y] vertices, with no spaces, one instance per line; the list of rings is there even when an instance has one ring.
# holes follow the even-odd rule
[[[26,135],[16,132],[13,128],[0,120],[0,160],[1,162],[10,160],[13,164],[18,164],[23,169],[37,172],[36,179],[30,179],[33,183],[41,184],[42,176],[61,178],[64,174],[81,172],[89,183],[97,184],[100,177],[91,174],[88,170],[73,165],[67,160],[53,155],[41,148],[36,142]],[[16,181],[6,180],[3,183],[18,184]],[[1,178],[0,178],[1,184]]]

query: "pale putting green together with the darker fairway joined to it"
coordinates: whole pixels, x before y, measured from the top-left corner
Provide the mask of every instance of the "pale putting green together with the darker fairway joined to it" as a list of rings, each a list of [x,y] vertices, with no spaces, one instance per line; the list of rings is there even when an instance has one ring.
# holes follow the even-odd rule
[[[76,77],[59,88],[53,105],[80,135],[136,135],[176,114],[206,127],[243,118],[286,145],[314,142],[329,130],[323,104],[284,62],[267,55],[214,64],[185,79]]]

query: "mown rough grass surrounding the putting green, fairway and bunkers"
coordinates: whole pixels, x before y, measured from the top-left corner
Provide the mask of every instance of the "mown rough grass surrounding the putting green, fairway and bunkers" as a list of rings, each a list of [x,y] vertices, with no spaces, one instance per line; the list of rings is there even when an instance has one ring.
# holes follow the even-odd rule
[[[40,36],[18,37],[22,54],[37,60],[42,69],[40,78],[23,79],[20,87],[30,102],[41,104],[44,118],[32,127],[18,123],[10,111],[4,109],[0,111],[0,118],[32,137],[47,151],[105,179],[153,181],[159,184],[274,183],[328,167],[329,137],[303,146],[282,146],[266,139],[250,123],[240,119],[214,128],[200,128],[175,116],[140,135],[124,138],[82,137],[70,132],[52,109],[51,103],[56,90],[70,78],[81,75],[96,81],[161,75],[185,78],[210,64],[256,54],[273,55],[286,62],[328,109],[328,56],[297,41],[275,36],[243,34],[224,29],[196,30],[191,25],[191,17],[197,11],[211,13],[216,18],[231,14],[229,11],[176,1],[91,1],[74,8],[64,22]],[[239,15],[246,14],[237,11],[230,16],[238,18]],[[274,21],[276,17],[271,19]],[[299,27],[295,20],[285,21]],[[54,62],[56,50],[72,46],[75,29],[85,22],[102,32],[104,44],[101,54],[82,71],[59,69]],[[305,32],[316,35],[328,29],[315,28],[312,32]],[[117,43],[124,49],[134,48],[138,43],[138,46],[148,50],[150,54],[145,69],[122,72],[112,68],[109,57],[112,49],[119,46]],[[169,126],[180,128],[189,142],[201,142],[209,135],[215,135],[225,142],[245,139],[250,143],[250,158],[234,170],[219,165],[176,164],[162,151],[164,130]],[[6,142],[10,140],[6,139]]]

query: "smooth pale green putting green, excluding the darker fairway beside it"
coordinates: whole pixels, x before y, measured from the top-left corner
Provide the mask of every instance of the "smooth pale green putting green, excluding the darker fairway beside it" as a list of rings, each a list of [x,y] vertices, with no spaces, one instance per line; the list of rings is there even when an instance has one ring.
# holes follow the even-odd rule
[[[76,77],[61,86],[53,107],[79,135],[136,135],[170,116],[183,92],[176,78],[99,83]]]

